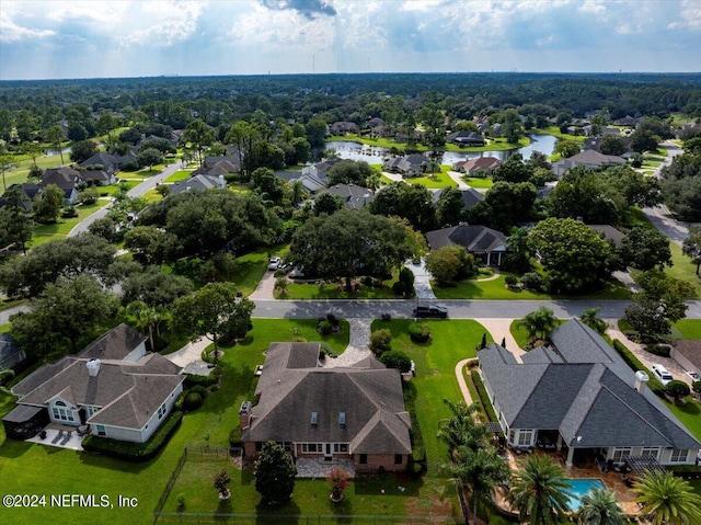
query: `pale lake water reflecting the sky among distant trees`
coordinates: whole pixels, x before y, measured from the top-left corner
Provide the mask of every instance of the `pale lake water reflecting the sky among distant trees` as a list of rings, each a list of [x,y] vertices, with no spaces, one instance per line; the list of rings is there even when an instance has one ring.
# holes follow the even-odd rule
[[[531,142],[519,149],[506,151],[444,151],[440,160],[441,164],[453,164],[461,160],[476,159],[480,157],[496,157],[504,161],[515,151],[520,152],[524,159],[529,159],[533,151],[540,151],[547,156],[552,155],[558,139],[552,135],[530,135]],[[383,159],[390,157],[390,150],[377,146],[350,142],[348,140],[326,142],[326,148],[334,148],[342,159],[365,160],[370,164],[382,163]]]

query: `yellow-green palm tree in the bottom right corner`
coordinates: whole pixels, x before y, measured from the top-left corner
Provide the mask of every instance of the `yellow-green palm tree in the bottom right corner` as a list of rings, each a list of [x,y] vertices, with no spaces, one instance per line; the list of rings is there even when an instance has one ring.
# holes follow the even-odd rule
[[[701,497],[673,472],[646,471],[633,486],[641,513],[653,525],[691,525],[701,523]]]

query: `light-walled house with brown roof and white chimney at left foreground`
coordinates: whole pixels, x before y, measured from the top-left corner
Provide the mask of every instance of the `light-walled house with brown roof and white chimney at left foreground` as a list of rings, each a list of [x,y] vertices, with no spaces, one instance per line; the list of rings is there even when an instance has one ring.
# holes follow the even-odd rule
[[[83,427],[96,436],[143,443],[183,391],[181,368],[146,352],[146,340],[126,324],[77,355],[67,355],[22,379],[18,407],[2,419],[7,435],[26,440],[48,423]]]

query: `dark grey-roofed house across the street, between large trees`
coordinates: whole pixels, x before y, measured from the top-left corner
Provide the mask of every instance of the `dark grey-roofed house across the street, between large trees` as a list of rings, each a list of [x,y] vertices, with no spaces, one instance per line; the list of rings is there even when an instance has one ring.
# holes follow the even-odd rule
[[[432,250],[461,246],[469,253],[481,259],[487,266],[501,265],[502,256],[506,253],[506,236],[501,231],[480,225],[459,225],[428,231],[426,240]]]

